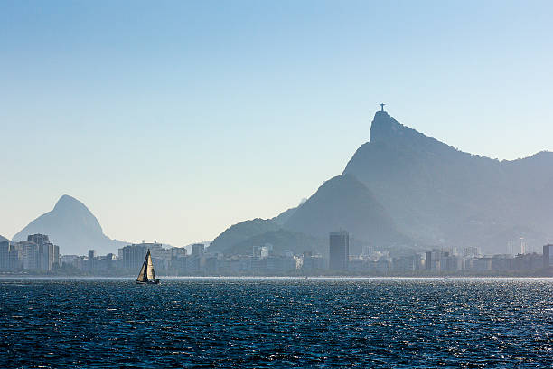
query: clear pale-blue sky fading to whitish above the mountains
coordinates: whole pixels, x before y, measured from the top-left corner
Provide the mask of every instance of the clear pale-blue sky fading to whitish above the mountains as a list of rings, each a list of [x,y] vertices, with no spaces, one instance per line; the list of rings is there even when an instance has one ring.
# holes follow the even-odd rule
[[[553,150],[552,35],[551,1],[0,1],[0,234],[70,194],[112,238],[211,240],[340,175],[380,102]]]

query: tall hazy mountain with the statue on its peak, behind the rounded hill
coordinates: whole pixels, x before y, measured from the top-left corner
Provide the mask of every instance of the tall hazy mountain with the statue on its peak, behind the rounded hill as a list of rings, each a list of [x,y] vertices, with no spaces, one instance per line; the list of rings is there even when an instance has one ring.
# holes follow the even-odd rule
[[[534,250],[553,236],[553,153],[512,161],[464,153],[375,114],[370,142],[343,171],[358,178],[398,229],[436,245]]]

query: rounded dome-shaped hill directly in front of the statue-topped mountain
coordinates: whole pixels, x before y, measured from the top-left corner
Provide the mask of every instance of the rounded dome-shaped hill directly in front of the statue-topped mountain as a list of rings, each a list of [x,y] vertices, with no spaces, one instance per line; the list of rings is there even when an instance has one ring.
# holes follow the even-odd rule
[[[351,237],[379,245],[410,243],[378,199],[353,175],[326,181],[284,224],[284,228],[328,239],[341,229]]]

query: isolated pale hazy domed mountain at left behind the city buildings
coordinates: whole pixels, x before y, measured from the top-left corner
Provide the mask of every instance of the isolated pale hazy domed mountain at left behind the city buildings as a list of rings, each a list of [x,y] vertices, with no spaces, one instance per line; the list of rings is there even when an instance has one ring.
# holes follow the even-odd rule
[[[109,239],[89,209],[67,194],[61,196],[51,212],[42,214],[15,234],[14,241],[26,241],[34,233],[47,234],[65,255],[86,255],[89,249],[99,254],[117,253],[117,248],[126,244]]]

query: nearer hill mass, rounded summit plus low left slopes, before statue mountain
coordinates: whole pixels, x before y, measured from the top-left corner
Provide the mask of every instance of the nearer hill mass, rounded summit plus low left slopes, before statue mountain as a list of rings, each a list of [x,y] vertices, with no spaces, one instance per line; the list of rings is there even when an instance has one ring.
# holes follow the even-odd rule
[[[290,250],[328,253],[328,233],[345,229],[351,233],[351,253],[360,253],[363,244],[388,248],[413,243],[398,232],[384,207],[369,189],[352,175],[326,181],[298,207],[273,219],[239,222],[222,232],[210,252],[228,255],[250,254],[253,246],[273,245],[279,254]]]

